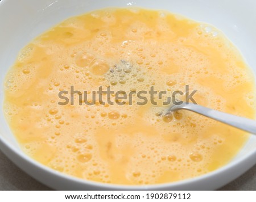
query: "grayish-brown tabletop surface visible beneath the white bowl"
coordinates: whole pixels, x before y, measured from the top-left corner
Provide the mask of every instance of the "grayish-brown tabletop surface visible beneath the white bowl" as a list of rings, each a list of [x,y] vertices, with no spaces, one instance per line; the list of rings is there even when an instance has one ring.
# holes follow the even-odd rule
[[[52,190],[16,167],[0,152],[0,190]],[[256,190],[256,165],[220,190]]]

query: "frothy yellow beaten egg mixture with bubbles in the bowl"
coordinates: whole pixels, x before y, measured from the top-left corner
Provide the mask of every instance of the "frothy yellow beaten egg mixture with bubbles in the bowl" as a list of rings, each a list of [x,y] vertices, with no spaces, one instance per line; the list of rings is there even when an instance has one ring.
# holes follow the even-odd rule
[[[24,47],[6,76],[4,108],[24,152],[52,169],[104,183],[174,182],[224,166],[247,133],[189,111],[163,117],[157,94],[156,106],[134,95],[122,106],[97,96],[89,105],[76,93],[61,105],[59,92],[70,99],[73,86],[93,102],[100,86],[171,95],[185,85],[203,106],[254,118],[253,74],[216,28],[166,11],[104,9]]]

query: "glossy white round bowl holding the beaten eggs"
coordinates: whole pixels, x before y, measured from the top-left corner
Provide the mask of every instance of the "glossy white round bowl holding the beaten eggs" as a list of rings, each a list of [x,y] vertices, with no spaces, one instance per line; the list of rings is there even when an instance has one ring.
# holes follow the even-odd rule
[[[251,136],[228,165],[197,178],[152,186],[117,186],[77,179],[34,161],[22,152],[3,115],[3,80],[19,50],[31,39],[70,16],[104,7],[164,9],[219,28],[241,50],[256,72],[256,1],[250,0],[2,0],[0,2],[0,148],[16,165],[56,190],[214,190],[256,163]]]

